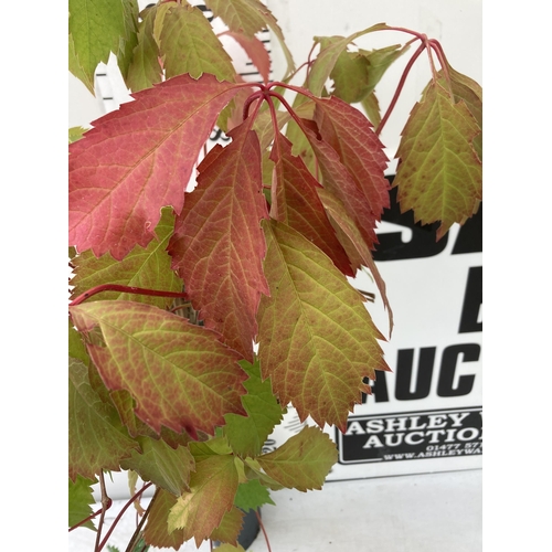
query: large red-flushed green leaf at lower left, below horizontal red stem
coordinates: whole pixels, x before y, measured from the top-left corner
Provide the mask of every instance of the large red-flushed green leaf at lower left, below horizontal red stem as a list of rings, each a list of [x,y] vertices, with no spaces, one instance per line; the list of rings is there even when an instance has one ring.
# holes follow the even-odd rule
[[[136,415],[157,433],[213,434],[224,414],[245,414],[240,396],[246,374],[238,354],[217,335],[181,317],[134,301],[93,301],[71,307],[85,336],[99,327],[105,344],[88,352],[109,390],[127,390]]]

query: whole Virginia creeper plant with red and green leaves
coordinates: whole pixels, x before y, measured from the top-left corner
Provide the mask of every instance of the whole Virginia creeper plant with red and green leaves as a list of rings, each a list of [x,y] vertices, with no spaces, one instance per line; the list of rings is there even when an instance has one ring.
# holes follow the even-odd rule
[[[72,73],[94,94],[112,52],[132,92],[91,129],[70,131],[68,522],[97,531],[96,551],[110,534],[108,471],[156,489],[147,510],[144,489],[129,495],[140,523],[128,550],[189,539],[240,550],[244,511],[272,503],[269,490],[321,488],[337,461],[323,427],[344,429],[367,382],[389,370],[386,337],[348,277],[371,272],[391,336],[372,259],[391,188],[379,136],[423,59],[432,77],[396,152],[401,209],[440,222],[442,237],[482,197],[481,88],[437,41],[380,23],[315,38],[296,68],[259,0],[205,3],[262,82],[240,78],[185,0],[140,13],[136,0],[70,0]],[[263,29],[287,60],[278,82]],[[354,45],[390,30],[404,44]],[[381,113],[375,88],[403,55]],[[302,86],[290,84],[301,68]],[[206,151],[214,127],[230,139]],[[288,405],[311,423],[263,453]]]

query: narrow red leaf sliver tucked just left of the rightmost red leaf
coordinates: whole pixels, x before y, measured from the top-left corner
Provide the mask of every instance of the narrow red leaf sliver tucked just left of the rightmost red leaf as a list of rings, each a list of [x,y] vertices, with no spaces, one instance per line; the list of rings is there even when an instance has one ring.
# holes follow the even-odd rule
[[[376,217],[370,203],[357,185],[351,173],[341,163],[336,150],[325,140],[319,139],[312,126],[304,120],[305,135],[309,140],[322,173],[322,185],[341,200],[349,215],[355,221],[367,245],[373,250],[378,243],[375,234]]]

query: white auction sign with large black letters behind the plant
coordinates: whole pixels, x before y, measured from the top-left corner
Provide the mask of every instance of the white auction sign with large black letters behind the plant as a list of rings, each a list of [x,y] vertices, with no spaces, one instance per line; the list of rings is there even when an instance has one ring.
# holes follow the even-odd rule
[[[449,471],[481,467],[482,252],[479,212],[436,240],[438,224],[415,224],[392,205],[378,231],[374,253],[385,282],[394,327],[367,273],[351,283],[373,294],[368,301],[391,372],[376,372],[372,395],[349,416],[337,443],[338,464],[328,480]],[[279,446],[300,423],[288,410],[266,449]]]

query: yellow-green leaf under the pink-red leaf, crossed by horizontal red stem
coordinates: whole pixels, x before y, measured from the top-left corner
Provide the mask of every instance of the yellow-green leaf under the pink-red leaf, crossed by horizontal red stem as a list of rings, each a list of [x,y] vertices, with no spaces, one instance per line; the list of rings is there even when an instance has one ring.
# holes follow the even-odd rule
[[[182,280],[171,269],[171,257],[167,253],[169,238],[174,230],[172,209],[163,209],[153,238],[147,247],[136,245],[123,259],[116,261],[109,253],[97,258],[92,251],[85,251],[73,259],[71,285],[72,298],[103,284],[141,287],[162,291],[182,291]],[[167,308],[173,299],[148,295],[104,291],[91,297],[92,300],[134,300]]]

